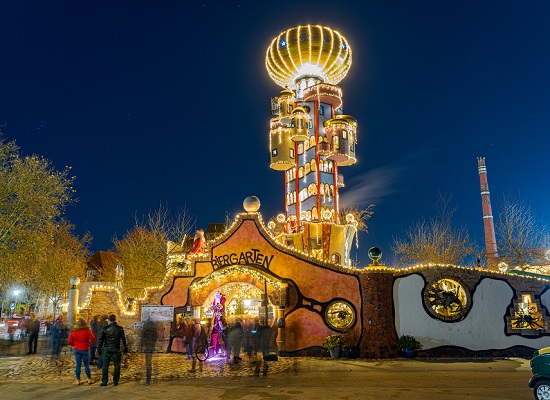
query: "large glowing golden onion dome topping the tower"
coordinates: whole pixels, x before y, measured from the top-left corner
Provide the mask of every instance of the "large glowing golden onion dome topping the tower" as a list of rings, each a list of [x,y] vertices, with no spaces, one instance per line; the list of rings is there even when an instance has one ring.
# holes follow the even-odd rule
[[[303,25],[281,32],[265,56],[271,79],[294,88],[300,77],[318,77],[338,84],[351,67],[351,47],[340,33],[325,26]]]

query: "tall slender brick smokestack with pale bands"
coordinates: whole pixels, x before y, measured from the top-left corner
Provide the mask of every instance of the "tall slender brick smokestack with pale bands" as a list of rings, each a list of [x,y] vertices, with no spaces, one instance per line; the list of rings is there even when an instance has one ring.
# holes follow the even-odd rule
[[[487,253],[487,266],[492,271],[498,271],[497,241],[495,237],[493,211],[491,210],[491,194],[489,193],[489,183],[487,182],[485,157],[477,158],[477,169],[479,171],[479,183],[481,185],[481,208],[483,210],[483,228],[485,230],[485,252]]]

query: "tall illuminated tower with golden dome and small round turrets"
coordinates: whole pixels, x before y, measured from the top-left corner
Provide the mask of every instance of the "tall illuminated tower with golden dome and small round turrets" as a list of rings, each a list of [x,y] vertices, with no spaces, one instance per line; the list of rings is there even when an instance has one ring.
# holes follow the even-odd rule
[[[284,171],[285,215],[277,218],[284,240],[349,266],[356,222],[341,221],[339,169],[356,162],[357,121],[343,114],[336,85],[351,67],[351,48],[330,28],[298,26],[273,39],[265,63],[283,88],[271,101],[269,147],[270,167]]]

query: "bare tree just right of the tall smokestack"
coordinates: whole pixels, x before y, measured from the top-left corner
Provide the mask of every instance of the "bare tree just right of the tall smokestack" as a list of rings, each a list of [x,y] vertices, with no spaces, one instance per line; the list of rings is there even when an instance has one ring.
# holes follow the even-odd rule
[[[505,196],[495,226],[500,261],[509,267],[524,268],[531,263],[545,263],[550,247],[548,228],[524,200]]]

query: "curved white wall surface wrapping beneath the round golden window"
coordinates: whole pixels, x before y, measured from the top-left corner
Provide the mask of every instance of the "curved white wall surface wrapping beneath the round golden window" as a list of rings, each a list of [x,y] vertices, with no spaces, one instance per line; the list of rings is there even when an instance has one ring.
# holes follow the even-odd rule
[[[442,322],[428,315],[423,306],[424,279],[417,274],[395,280],[393,287],[395,327],[398,336],[413,335],[424,349],[453,345],[470,350],[506,349],[516,345],[532,348],[550,346],[550,337],[528,339],[504,333],[506,309],[512,301],[510,286],[485,278],[472,296],[472,308],[460,322]],[[550,305],[550,291],[541,298]]]

